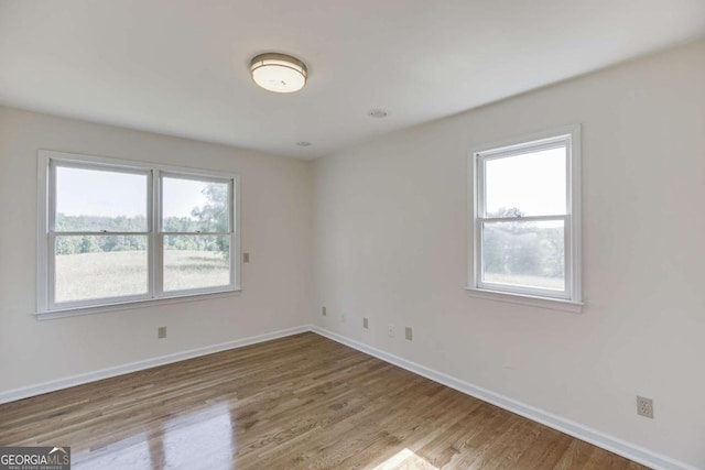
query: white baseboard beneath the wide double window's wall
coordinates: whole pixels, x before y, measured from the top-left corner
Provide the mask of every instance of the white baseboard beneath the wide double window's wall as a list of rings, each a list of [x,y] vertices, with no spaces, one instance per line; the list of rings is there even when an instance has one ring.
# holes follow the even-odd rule
[[[197,358],[199,356],[212,354],[214,352],[220,352],[228,349],[241,348],[243,346],[254,345],[258,342],[269,341],[276,338],[283,338],[285,336],[297,335],[301,332],[311,331],[308,325],[288,328],[274,332],[264,335],[251,336],[249,338],[237,339],[235,341],[221,342],[219,345],[206,346],[203,348],[191,349],[188,351],[175,352],[173,354],[161,356],[159,358],[147,359],[143,361],[131,362],[129,364],[117,365],[113,368],[102,369],[99,371],[87,372],[78,375],[73,375],[64,379],[52,380],[43,382],[36,385],[24,386],[20,389],[10,390],[7,392],[0,392],[0,404],[14,402],[15,400],[28,398],[30,396],[41,395],[43,393],[55,392],[62,389],[68,389],[70,386],[80,385],[88,382],[95,382],[97,380],[110,379],[113,376],[127,374],[130,372],[137,372],[144,369],[155,368],[158,365],[170,364],[172,362],[178,362],[186,359]]]

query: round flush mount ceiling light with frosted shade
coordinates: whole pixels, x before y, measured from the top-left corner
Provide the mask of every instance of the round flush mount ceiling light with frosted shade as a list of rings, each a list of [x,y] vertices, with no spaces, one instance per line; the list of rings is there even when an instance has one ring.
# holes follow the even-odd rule
[[[269,91],[290,94],[306,85],[306,64],[286,54],[260,54],[250,62],[250,73],[257,85]]]

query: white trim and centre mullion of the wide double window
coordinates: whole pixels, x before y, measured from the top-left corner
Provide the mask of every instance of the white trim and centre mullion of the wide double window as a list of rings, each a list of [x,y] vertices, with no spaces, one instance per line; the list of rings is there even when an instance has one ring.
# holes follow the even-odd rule
[[[148,239],[150,245],[150,262],[148,282],[150,283],[150,294],[139,296],[124,296],[116,298],[102,298],[98,300],[64,303],[57,306],[51,305],[51,293],[53,288],[52,260],[53,252],[50,250],[52,241],[51,227],[56,198],[51,197],[50,188],[55,188],[51,184],[51,162],[56,161],[70,166],[105,166],[119,171],[135,173],[149,173],[151,177],[151,193],[148,195]],[[237,295],[240,291],[240,248],[241,248],[241,223],[240,223],[240,176],[237,174],[214,172],[202,168],[189,168],[182,166],[171,166],[152,164],[145,162],[109,159],[102,156],[82,155],[76,153],[56,152],[40,150],[37,159],[37,236],[36,236],[36,317],[39,319],[62,318],[75,315],[86,315],[119,309],[131,309],[154,305],[173,304],[181,302],[193,302],[203,298],[223,297]],[[189,291],[158,292],[155,288],[156,276],[161,275],[158,269],[161,263],[161,207],[156,208],[154,201],[161,205],[161,179],[162,176],[184,176],[192,178],[214,179],[218,182],[231,181],[230,184],[230,284],[227,286],[206,287]]]

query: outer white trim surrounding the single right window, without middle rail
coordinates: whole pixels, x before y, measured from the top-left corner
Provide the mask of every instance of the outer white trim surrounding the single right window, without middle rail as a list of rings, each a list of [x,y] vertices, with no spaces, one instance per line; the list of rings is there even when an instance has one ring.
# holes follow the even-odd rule
[[[482,204],[484,194],[480,187],[481,182],[478,179],[478,156],[501,153],[506,155],[511,152],[512,147],[519,151],[525,149],[527,144],[541,145],[556,142],[561,138],[568,139],[568,155],[566,162],[566,172],[568,187],[567,206],[568,215],[564,220],[565,239],[566,239],[566,295],[564,297],[542,295],[540,291],[531,288],[511,288],[499,289],[491,285],[482,284],[480,280],[480,223],[478,223],[479,211]],[[543,142],[541,142],[543,141]],[[522,151],[523,153],[523,151]],[[466,288],[474,297],[489,300],[500,300],[513,304],[530,305],[542,308],[551,308],[566,310],[573,313],[582,311],[583,292],[582,292],[582,186],[581,186],[581,125],[573,124],[563,128],[551,129],[543,132],[536,132],[529,135],[507,139],[503,141],[491,142],[480,145],[467,155],[468,170],[468,284]]]

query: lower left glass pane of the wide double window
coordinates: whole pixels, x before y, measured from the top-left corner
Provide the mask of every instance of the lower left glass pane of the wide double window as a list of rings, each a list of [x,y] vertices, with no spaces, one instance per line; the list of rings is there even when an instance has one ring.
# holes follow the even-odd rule
[[[54,302],[148,293],[147,236],[56,237]]]

